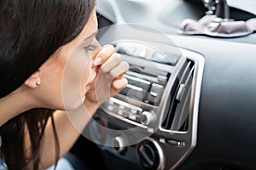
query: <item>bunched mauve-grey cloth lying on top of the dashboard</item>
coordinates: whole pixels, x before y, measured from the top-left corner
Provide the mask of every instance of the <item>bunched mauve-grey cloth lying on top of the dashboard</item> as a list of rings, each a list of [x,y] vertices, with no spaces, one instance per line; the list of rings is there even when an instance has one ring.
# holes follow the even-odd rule
[[[256,31],[256,18],[243,20],[221,20],[216,15],[208,14],[200,20],[185,19],[179,33],[194,35],[202,34],[212,37],[241,37]]]

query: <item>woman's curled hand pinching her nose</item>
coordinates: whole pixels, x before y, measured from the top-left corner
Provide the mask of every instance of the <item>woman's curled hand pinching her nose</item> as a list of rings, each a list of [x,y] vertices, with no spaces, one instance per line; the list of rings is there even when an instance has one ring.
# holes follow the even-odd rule
[[[96,54],[96,80],[90,84],[90,90],[85,96],[86,100],[100,103],[126,87],[128,81],[123,77],[129,69],[129,64],[121,60],[120,54],[115,53],[112,45],[105,46]]]

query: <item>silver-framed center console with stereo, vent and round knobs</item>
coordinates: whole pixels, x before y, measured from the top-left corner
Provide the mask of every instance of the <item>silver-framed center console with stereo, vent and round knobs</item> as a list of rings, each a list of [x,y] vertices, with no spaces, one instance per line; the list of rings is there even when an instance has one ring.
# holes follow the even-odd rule
[[[204,58],[162,42],[113,45],[130,64],[128,85],[102,102],[84,135],[104,150],[106,169],[175,169],[195,148]]]

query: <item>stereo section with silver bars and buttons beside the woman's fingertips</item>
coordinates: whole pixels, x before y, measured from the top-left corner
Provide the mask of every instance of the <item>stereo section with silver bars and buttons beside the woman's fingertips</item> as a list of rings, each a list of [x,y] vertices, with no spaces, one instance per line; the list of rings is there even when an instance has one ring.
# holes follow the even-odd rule
[[[129,83],[120,94],[149,105],[159,105],[170,73],[150,67],[131,65],[124,77]]]

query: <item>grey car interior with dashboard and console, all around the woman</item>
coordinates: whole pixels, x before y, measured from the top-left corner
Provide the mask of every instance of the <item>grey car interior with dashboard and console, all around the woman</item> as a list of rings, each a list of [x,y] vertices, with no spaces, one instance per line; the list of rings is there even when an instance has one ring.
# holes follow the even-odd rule
[[[256,169],[256,1],[97,0],[130,65],[71,152],[91,169]]]

